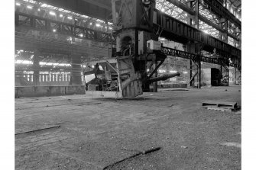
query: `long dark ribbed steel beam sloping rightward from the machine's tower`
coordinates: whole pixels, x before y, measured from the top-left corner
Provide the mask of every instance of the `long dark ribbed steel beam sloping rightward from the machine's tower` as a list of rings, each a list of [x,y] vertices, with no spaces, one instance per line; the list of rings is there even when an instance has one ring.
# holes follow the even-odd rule
[[[163,30],[162,37],[174,39],[179,43],[187,43],[193,40],[203,43],[204,50],[206,51],[212,52],[215,49],[221,56],[241,57],[241,50],[238,48],[232,47],[228,43],[212,37],[182,21],[178,21],[157,9],[154,9],[153,23],[155,29],[161,28]]]

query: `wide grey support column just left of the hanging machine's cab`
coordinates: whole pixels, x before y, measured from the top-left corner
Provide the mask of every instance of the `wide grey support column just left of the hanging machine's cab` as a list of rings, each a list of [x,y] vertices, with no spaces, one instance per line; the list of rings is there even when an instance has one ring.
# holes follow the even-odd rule
[[[72,55],[71,56],[71,77],[70,77],[70,85],[82,85],[81,79],[81,56]]]

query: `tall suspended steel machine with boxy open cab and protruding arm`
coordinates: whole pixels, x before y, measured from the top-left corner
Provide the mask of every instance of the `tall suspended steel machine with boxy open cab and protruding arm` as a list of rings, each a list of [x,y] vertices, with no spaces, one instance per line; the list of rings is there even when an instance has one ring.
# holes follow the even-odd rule
[[[119,13],[116,12],[116,7]],[[166,55],[160,52],[161,43],[157,34],[153,32],[154,1],[120,1],[117,5],[112,1],[112,16],[116,32],[115,59],[99,61],[94,69],[96,78],[89,82],[87,90],[96,95],[105,97],[132,98],[149,91],[154,83],[157,91],[157,81],[180,75],[171,74],[157,78],[157,69],[164,63]],[[153,66],[153,67],[152,67]],[[148,71],[147,71],[148,70]],[[98,79],[97,74],[103,73],[103,79]],[[90,72],[85,72],[88,75]],[[107,74],[113,80],[108,84]],[[153,79],[152,77],[155,77]],[[110,77],[110,76],[109,76]],[[92,85],[94,84],[94,85]],[[102,85],[101,85],[102,84]],[[93,87],[93,88],[91,88]]]

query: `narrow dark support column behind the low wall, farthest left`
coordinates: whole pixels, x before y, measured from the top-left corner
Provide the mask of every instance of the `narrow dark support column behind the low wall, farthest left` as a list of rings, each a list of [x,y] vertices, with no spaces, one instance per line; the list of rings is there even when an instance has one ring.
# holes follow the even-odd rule
[[[38,50],[34,50],[34,56],[33,56],[33,84],[34,85],[40,85],[39,81],[39,62],[40,62],[40,53]]]

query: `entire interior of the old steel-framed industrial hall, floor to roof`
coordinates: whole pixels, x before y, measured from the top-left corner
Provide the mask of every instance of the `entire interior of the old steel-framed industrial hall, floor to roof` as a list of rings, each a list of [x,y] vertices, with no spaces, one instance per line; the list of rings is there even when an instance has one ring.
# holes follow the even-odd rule
[[[12,6],[15,169],[241,169],[241,0]]]

